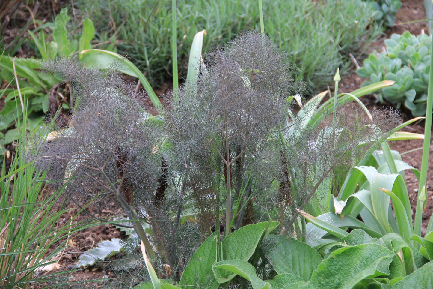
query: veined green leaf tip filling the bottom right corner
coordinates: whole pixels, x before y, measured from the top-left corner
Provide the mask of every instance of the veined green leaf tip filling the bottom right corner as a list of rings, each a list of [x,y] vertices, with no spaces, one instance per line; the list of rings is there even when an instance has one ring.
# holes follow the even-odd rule
[[[433,288],[433,262],[427,263],[414,273],[404,277],[392,289]]]

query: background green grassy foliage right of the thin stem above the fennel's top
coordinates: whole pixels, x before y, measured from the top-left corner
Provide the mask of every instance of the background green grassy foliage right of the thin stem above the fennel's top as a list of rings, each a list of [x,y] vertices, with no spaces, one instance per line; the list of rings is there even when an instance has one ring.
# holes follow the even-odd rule
[[[380,33],[375,11],[361,0],[263,2],[266,33],[296,65],[295,77],[314,94],[362,55]]]

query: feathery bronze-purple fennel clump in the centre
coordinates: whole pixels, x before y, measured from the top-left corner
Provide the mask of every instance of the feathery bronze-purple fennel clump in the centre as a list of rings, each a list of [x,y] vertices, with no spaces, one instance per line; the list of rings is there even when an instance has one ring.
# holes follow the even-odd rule
[[[333,122],[328,117],[352,96],[389,82],[319,105],[323,93],[294,115],[289,105],[300,100],[299,85],[284,55],[262,34],[246,33],[211,57],[212,65],[168,97],[171,108],[160,107],[157,117],[144,111],[143,95],[117,73],[52,63],[73,84],[79,104],[73,125],[49,134],[43,145],[39,140],[48,131],[41,130],[26,145],[29,160],[49,168],[47,179],[65,187],[71,200],[101,210],[113,202],[123,207],[158,272],[171,268],[165,275],[173,279],[199,247],[200,238],[191,236],[220,234],[218,260],[243,261],[259,243],[233,258],[224,247],[236,241],[238,230],[250,230],[249,224],[261,227],[252,232],[254,240],[261,240],[268,221],[269,231],[279,227],[281,234],[294,231],[305,238],[295,208],[328,211],[335,176],[371,154],[395,121],[356,109],[334,114]]]

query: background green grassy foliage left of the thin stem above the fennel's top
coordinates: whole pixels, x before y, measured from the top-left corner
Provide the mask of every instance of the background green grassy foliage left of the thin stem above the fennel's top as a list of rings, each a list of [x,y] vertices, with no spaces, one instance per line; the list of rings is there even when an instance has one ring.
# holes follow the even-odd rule
[[[207,30],[203,50],[227,43],[239,31],[253,28],[258,20],[249,1],[176,1],[179,75],[186,76],[189,49],[195,33]],[[91,16],[97,31],[116,33],[117,52],[146,73],[149,82],[161,85],[170,79],[172,66],[171,0],[78,1]]]

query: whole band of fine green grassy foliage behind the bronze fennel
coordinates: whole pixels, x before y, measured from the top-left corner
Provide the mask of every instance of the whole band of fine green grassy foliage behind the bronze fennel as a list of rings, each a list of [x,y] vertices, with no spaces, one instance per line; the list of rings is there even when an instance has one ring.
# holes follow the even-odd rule
[[[150,82],[160,85],[171,76],[171,1],[78,1],[97,31],[116,33],[119,53],[128,55]],[[311,94],[326,86],[337,67],[347,67],[349,53],[362,54],[381,30],[374,10],[361,0],[313,2],[263,1],[266,32],[289,54],[297,80]],[[207,30],[203,51],[223,46],[242,30],[259,28],[259,7],[249,0],[177,1],[179,76],[185,77],[194,34]]]

